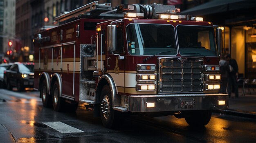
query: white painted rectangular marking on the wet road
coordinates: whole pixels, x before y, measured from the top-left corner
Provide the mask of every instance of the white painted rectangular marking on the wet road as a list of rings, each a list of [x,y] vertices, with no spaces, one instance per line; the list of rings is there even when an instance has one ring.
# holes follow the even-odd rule
[[[65,133],[75,133],[75,132],[83,132],[82,130],[79,130],[77,128],[71,127],[70,125],[67,125],[65,123],[62,123],[60,121],[57,122],[43,122],[43,124],[48,125],[49,127],[53,128],[54,130],[57,130],[63,134]]]

